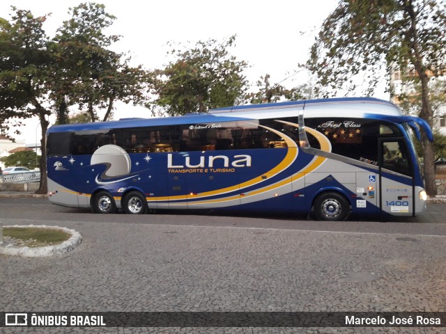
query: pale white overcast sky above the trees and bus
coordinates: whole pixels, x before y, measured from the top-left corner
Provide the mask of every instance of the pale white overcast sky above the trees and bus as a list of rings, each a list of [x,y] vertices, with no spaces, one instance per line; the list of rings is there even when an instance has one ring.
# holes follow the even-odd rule
[[[52,38],[63,21],[70,19],[69,8],[82,2],[86,1],[1,0],[0,17],[10,20],[11,5],[31,10],[35,17],[52,13],[43,26]],[[271,84],[280,82],[288,88],[305,83],[305,74],[292,74],[298,70],[298,63],[307,60],[323,19],[337,6],[335,0],[94,2],[103,3],[107,13],[116,16],[107,33],[122,37],[112,50],[129,52],[134,66],[143,65],[146,70],[153,70],[167,65],[171,60],[167,58],[167,51],[171,49],[167,47],[169,41],[194,45],[199,40],[224,40],[236,34],[236,47],[229,51],[249,64],[245,72],[247,79],[254,85],[268,73]],[[151,116],[148,109],[128,104],[116,104],[114,114],[115,119]],[[20,131],[23,134],[14,136],[16,139],[35,143],[40,134],[37,118],[28,120]]]

